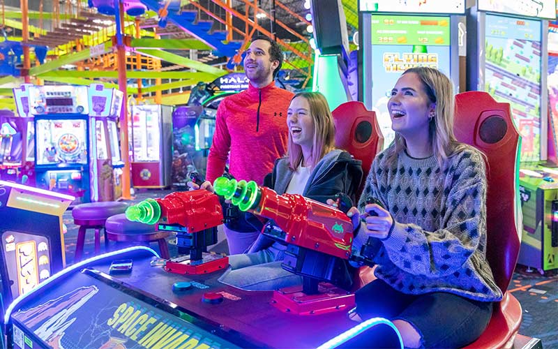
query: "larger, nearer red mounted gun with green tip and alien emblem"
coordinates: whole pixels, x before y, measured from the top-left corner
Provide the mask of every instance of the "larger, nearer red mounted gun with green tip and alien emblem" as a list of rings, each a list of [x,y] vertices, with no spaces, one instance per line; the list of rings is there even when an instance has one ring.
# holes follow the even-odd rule
[[[301,275],[303,285],[273,292],[274,306],[301,315],[354,306],[354,295],[347,292],[352,286],[347,260],[353,239],[347,214],[302,195],[278,195],[254,181],[220,177],[213,188],[241,211],[269,218],[262,233],[287,244],[281,267]],[[343,206],[342,195],[337,199]]]

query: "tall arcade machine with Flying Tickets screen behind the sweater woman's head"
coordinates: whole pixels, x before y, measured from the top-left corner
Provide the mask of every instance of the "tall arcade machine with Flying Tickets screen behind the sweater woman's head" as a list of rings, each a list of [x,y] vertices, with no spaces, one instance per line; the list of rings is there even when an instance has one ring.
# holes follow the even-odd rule
[[[401,73],[414,66],[437,68],[459,91],[458,15],[465,0],[361,0],[359,96],[376,112],[384,149],[395,133],[387,101]]]

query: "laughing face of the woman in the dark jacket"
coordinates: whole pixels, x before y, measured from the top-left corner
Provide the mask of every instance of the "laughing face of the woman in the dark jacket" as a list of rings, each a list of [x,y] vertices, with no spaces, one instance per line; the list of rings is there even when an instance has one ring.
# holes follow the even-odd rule
[[[315,125],[310,114],[310,103],[304,97],[296,97],[287,110],[287,126],[294,144],[299,144],[303,153],[310,151],[314,144]]]

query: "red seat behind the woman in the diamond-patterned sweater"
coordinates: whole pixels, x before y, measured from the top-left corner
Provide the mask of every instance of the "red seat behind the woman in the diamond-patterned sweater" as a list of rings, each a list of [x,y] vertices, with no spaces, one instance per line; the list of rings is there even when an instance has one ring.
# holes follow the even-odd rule
[[[508,103],[497,103],[490,94],[469,91],[455,96],[455,137],[484,152],[487,158],[487,250],[492,273],[504,299],[482,336],[467,348],[511,348],[518,334],[522,310],[507,292],[520,248],[518,183],[519,133]]]

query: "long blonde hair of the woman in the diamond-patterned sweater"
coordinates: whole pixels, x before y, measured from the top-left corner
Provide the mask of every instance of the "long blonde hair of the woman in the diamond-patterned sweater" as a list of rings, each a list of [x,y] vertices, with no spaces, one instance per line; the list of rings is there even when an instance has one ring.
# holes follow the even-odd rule
[[[467,148],[467,144],[459,142],[453,134],[453,104],[455,99],[453,84],[446,75],[434,68],[409,68],[402,75],[409,73],[415,73],[418,76],[430,103],[435,104],[435,113],[434,117],[430,118],[428,132],[432,151],[434,151],[439,165],[444,168],[449,156]],[[393,142],[395,146],[388,154],[390,161],[395,161],[397,154],[407,147],[405,138],[398,132],[395,133]]]

